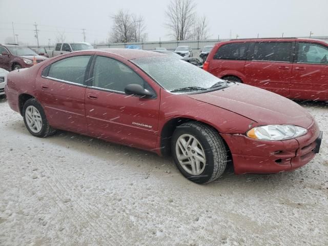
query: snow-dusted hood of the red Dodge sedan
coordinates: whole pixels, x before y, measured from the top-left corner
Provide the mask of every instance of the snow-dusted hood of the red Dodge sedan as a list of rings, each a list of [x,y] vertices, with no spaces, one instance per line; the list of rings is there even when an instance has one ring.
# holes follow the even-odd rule
[[[189,97],[258,122],[258,125],[291,124],[308,128],[313,117],[292,100],[253,86],[235,84],[222,90]]]

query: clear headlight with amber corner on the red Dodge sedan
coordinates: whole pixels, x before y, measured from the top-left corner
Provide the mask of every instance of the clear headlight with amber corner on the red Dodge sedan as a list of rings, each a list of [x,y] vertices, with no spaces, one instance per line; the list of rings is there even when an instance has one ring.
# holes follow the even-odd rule
[[[304,135],[308,130],[293,125],[268,125],[254,127],[246,135],[259,140],[285,140]]]

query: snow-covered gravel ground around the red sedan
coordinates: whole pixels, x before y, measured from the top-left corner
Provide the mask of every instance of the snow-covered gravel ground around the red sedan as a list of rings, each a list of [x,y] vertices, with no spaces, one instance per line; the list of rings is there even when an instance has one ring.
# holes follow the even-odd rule
[[[29,134],[0,100],[0,245],[328,245],[328,104],[305,167],[185,179],[170,158],[59,132]]]

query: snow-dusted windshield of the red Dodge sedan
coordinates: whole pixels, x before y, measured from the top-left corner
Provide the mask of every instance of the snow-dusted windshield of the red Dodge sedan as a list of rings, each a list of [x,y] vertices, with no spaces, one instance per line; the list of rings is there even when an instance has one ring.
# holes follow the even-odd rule
[[[224,82],[186,61],[173,57],[142,57],[132,61],[168,91],[180,88],[190,88],[185,90],[187,92],[203,90]],[[179,91],[181,92],[182,90]]]

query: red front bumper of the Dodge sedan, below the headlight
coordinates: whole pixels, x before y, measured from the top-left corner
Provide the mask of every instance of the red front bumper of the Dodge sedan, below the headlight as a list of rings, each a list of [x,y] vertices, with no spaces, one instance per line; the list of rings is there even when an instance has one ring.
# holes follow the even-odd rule
[[[310,162],[319,151],[322,132],[313,121],[305,135],[289,140],[263,141],[233,134],[221,136],[230,148],[236,174],[265,174],[295,170]]]

